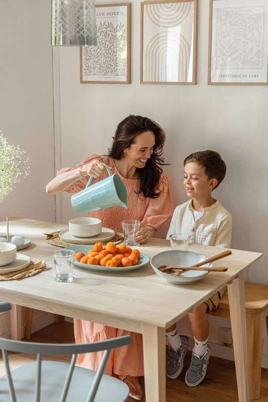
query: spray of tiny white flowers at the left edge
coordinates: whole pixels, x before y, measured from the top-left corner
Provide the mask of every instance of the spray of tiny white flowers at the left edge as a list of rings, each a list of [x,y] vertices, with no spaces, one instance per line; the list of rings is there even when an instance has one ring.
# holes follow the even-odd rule
[[[0,130],[0,203],[20,182],[20,176],[30,173],[26,152],[19,145],[9,145],[2,134]]]

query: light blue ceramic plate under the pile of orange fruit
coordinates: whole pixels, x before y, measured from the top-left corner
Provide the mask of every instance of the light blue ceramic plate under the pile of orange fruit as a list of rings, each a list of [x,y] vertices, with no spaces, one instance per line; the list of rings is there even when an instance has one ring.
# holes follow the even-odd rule
[[[87,255],[87,251],[93,248],[93,246],[70,246],[65,247],[65,249],[73,250],[76,253],[81,251],[85,255]],[[136,265],[132,265],[131,267],[102,267],[101,265],[90,265],[90,264],[81,264],[79,261],[75,261],[74,265],[79,268],[89,269],[90,271],[102,271],[102,272],[129,272],[134,271],[135,269],[139,269],[150,261],[150,258],[147,255],[141,254]]]

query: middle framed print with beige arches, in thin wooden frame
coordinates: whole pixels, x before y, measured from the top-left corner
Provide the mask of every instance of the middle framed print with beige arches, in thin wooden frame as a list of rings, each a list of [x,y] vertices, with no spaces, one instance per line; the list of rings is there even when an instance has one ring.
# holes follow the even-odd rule
[[[198,0],[141,3],[141,84],[196,84]]]

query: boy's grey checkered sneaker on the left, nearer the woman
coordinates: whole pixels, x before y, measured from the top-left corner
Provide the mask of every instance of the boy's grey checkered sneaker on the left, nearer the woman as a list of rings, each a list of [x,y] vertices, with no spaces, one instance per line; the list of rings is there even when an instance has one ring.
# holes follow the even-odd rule
[[[190,346],[190,338],[181,335],[181,346],[175,352],[170,346],[168,348],[166,375],[168,378],[178,378],[183,369],[183,361]]]

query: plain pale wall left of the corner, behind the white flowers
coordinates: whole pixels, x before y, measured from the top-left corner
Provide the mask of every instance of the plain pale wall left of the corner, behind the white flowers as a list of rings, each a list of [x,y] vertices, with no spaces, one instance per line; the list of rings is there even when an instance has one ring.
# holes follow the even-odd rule
[[[55,170],[50,3],[0,2],[0,130],[26,151],[31,170],[0,205],[0,219],[55,217],[55,199],[45,192]]]

